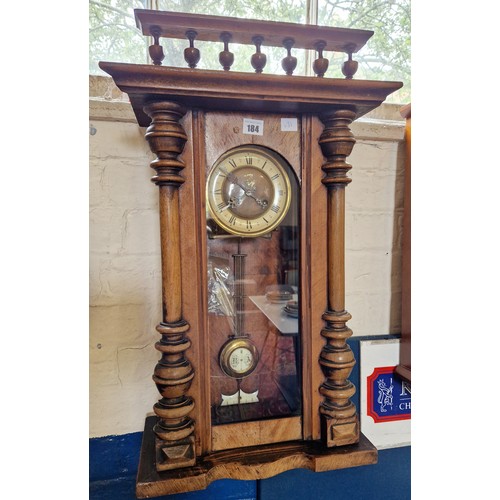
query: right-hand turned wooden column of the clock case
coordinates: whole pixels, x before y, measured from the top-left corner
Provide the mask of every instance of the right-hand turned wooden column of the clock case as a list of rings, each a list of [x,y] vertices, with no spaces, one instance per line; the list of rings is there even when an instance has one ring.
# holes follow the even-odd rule
[[[347,172],[351,165],[346,157],[356,142],[349,125],[356,114],[348,109],[324,113],[320,116],[325,128],[319,138],[323,156],[322,165],[327,188],[327,245],[328,245],[328,303],[323,314],[326,325],[321,331],[326,344],[319,364],[325,376],[320,386],[323,401],[320,404],[321,438],[328,447],[359,441],[359,421],[356,407],[350,398],[356,392],[349,382],[354,354],[346,340],[352,330],[346,326],[351,315],[345,310],[345,188],[351,179]]]

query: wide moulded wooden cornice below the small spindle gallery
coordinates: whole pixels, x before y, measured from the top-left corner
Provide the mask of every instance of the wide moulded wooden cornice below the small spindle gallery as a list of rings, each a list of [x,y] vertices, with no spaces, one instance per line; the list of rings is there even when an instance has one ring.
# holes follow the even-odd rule
[[[151,118],[146,104],[174,101],[220,111],[321,114],[351,109],[356,118],[377,108],[401,82],[223,72],[170,66],[101,62],[127,93],[141,127]]]

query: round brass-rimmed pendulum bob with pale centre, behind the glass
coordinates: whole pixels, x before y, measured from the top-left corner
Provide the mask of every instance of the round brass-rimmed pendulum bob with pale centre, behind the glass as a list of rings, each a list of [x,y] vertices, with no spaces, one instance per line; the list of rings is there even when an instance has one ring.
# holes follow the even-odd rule
[[[243,378],[257,366],[258,352],[247,337],[235,337],[224,344],[220,353],[220,365],[226,375]]]

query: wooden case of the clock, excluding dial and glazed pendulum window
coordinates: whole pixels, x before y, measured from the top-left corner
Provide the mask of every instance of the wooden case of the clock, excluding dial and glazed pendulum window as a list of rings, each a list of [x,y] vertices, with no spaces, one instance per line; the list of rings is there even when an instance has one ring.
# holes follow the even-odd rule
[[[352,54],[372,35],[368,31],[149,10],[136,11],[136,19],[154,39],[154,64],[100,66],[129,95],[138,124],[147,127],[156,155],[152,181],[159,187],[163,318],[153,380],[162,398],[155,415],[146,418],[137,496],[203,489],[220,478],[262,479],[293,468],[325,471],[376,463],[377,450],[360,433],[350,401],[356,389],[348,380],[355,359],[346,343],[352,331],[344,304],[345,188],[351,168],[346,157],[355,143],[350,123],[401,83],[352,78],[357,66]],[[190,68],[160,65],[162,36],[189,39]],[[220,59],[226,67],[228,40],[254,44],[256,73],[195,69],[195,38],[223,41]],[[285,46],[287,75],[261,74],[262,39]],[[291,45],[317,50],[316,77],[292,76]],[[325,47],[348,53],[346,79],[322,77]],[[296,120],[297,131],[282,130],[283,118]],[[263,134],[245,134],[245,119],[262,120]],[[302,412],[213,425],[210,379],[220,340],[208,326],[205,186],[210,166],[246,144],[282,155],[300,185]]]

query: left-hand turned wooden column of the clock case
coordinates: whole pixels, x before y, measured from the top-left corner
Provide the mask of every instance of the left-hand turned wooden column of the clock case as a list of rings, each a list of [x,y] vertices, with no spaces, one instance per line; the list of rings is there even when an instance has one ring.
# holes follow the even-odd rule
[[[189,414],[194,401],[187,396],[194,377],[185,352],[191,346],[186,337],[189,324],[182,317],[181,244],[179,188],[184,168],[178,155],[187,140],[179,120],[185,109],[173,102],[145,106],[152,122],[146,139],[157,158],[151,162],[156,175],[151,179],[160,190],[160,237],[162,267],[162,321],[156,327],[162,338],[155,347],[161,359],[153,380],[162,398],[154,406],[159,417],[156,434],[156,469],[167,470],[195,464],[194,421]]]

